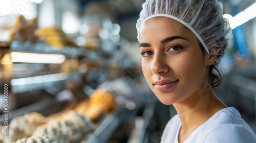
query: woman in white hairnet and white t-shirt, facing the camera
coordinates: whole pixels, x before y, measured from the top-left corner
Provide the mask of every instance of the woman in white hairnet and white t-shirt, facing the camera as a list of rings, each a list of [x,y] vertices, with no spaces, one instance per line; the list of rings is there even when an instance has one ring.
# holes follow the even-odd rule
[[[177,115],[161,142],[256,142],[240,113],[212,87],[232,39],[215,0],[147,0],[137,21],[142,71],[157,98]]]

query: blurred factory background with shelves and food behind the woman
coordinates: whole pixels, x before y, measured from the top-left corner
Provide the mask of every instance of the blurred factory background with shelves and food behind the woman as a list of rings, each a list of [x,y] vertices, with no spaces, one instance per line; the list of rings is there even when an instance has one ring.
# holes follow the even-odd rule
[[[0,142],[50,130],[69,142],[159,142],[176,112],[141,73],[135,25],[144,2],[0,0],[0,124],[8,86],[10,137],[0,131]],[[214,90],[256,132],[256,1],[221,2],[233,41]]]

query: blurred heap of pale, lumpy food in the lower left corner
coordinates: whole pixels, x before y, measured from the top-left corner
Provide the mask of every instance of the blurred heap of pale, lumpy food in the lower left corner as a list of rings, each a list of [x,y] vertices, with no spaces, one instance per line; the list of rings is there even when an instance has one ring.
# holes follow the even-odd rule
[[[48,118],[40,113],[32,112],[13,118],[8,129],[8,139],[0,136],[0,140],[2,139],[4,143],[46,142],[48,140],[72,143],[81,142],[93,130],[94,124],[90,119],[74,110]],[[4,134],[4,126],[0,126],[0,133]]]

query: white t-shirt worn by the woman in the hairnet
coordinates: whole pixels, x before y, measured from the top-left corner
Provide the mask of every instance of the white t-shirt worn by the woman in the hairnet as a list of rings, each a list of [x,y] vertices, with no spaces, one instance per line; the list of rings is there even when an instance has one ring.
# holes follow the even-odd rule
[[[178,143],[181,121],[176,114],[164,128],[162,143]],[[253,143],[256,135],[234,107],[221,109],[199,126],[183,143]]]

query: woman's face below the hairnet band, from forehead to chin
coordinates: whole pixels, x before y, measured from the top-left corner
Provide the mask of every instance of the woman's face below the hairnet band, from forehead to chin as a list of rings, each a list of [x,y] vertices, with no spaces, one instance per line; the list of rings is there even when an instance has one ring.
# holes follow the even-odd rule
[[[208,56],[203,55],[197,37],[179,22],[167,17],[145,21],[140,52],[145,79],[163,104],[199,95],[207,77]]]

